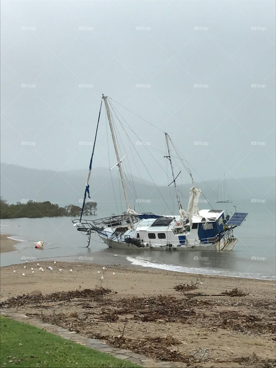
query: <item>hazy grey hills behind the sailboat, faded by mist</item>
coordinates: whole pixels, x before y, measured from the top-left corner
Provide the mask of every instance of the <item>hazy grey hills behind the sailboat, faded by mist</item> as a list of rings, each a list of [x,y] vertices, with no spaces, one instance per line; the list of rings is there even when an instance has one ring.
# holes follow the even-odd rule
[[[57,203],[60,206],[68,203],[79,205],[85,190],[85,181],[87,170],[76,171],[61,171],[56,173],[51,170],[28,169],[22,166],[1,163],[1,195],[8,203],[16,203],[27,201],[28,199],[37,202],[50,201]],[[113,173],[114,192],[117,202],[123,203],[123,194],[119,189],[120,180],[116,169]],[[218,173],[214,173],[217,176]],[[158,181],[158,180],[157,180]],[[141,210],[141,205],[145,203],[145,210],[152,210],[148,206],[150,200],[152,203],[162,201],[162,198],[154,184],[149,181],[142,182],[140,178],[135,178],[136,192],[130,191],[129,197],[131,205],[137,210]],[[209,201],[218,199],[217,180],[208,181],[206,183],[198,183],[203,194]],[[232,201],[239,199],[274,199],[275,177],[266,178],[239,178],[228,179],[225,181],[227,187],[228,198]],[[189,189],[191,183],[180,185],[180,192],[186,199],[189,197]],[[169,188],[166,185],[159,186],[163,198],[167,203],[171,204],[171,195],[173,195],[173,185]],[[110,171],[108,169],[96,168],[93,169],[90,181],[91,198],[98,202],[98,208],[101,204],[110,205],[110,211],[116,210],[114,207],[114,192],[110,179]],[[121,199],[120,199],[121,198]],[[140,204],[137,203],[137,198],[141,199]],[[173,196],[174,198],[174,196]],[[204,197],[201,197],[204,199]],[[183,200],[185,204],[185,200]],[[121,209],[121,207],[120,207]],[[120,212],[120,209],[119,212]]]

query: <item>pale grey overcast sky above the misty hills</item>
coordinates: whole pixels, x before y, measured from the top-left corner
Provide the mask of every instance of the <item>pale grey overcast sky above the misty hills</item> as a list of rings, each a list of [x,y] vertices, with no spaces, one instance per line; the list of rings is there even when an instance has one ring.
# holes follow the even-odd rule
[[[275,175],[274,0],[2,1],[1,55],[1,162],[87,167],[104,93],[160,162],[167,131],[205,180]]]

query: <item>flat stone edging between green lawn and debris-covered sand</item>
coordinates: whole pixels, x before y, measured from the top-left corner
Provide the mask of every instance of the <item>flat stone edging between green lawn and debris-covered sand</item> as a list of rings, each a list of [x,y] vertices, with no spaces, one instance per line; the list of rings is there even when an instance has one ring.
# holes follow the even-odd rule
[[[64,339],[71,340],[77,344],[82,344],[87,347],[96,349],[102,353],[108,353],[116,358],[125,359],[132,363],[140,364],[146,368],[175,368],[170,362],[156,361],[146,355],[133,353],[131,350],[125,350],[117,347],[107,345],[104,341],[98,339],[88,339],[85,336],[78,335],[76,332],[70,332],[65,328],[61,328],[56,325],[50,325],[49,323],[43,323],[38,319],[28,317],[23,313],[9,312],[6,309],[1,309],[1,314],[5,317],[10,317],[18,322],[29,323],[30,325],[36,326],[41,329],[45,329],[48,332],[59,335]]]

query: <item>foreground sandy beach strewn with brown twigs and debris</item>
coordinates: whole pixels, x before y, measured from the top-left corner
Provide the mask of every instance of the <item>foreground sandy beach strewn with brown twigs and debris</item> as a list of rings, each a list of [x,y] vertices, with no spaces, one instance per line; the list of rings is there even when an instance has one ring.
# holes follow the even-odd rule
[[[49,266],[53,268],[52,271],[47,271]],[[44,272],[39,271],[39,267]],[[190,354],[191,362],[197,361],[203,367],[263,367],[261,364],[273,367],[268,360],[275,358],[274,281],[115,265],[106,268],[103,270],[103,265],[94,263],[54,264],[54,261],[3,267],[2,302],[13,296],[34,292],[42,301],[26,298],[23,303],[11,302],[2,305],[2,308],[35,314],[43,321],[64,328],[73,326],[73,330],[82,335],[103,336],[107,343],[113,341],[112,336],[118,335],[127,319],[126,337],[129,340],[122,343],[122,348],[129,348],[125,344],[133,339],[142,340],[145,336],[173,336],[181,342],[174,348],[181,354]],[[63,269],[63,272],[59,269]],[[101,282],[102,272],[105,274]],[[22,276],[22,273],[26,276]],[[177,284],[190,285],[197,280],[197,289],[187,291],[188,294],[174,289]],[[40,296],[40,292],[44,295],[93,289],[96,285],[111,289],[109,295],[99,300],[68,300],[67,297],[62,300],[56,296]],[[221,295],[234,288],[248,295]],[[191,293],[201,295],[193,297]],[[177,312],[173,312],[175,315],[172,317],[174,308]],[[72,312],[77,313],[77,318],[69,316]],[[109,314],[107,319],[106,314]],[[135,347],[134,351],[138,352],[137,349]],[[153,351],[151,349],[143,353],[156,358]],[[186,367],[183,361],[174,358],[172,361],[177,367]]]

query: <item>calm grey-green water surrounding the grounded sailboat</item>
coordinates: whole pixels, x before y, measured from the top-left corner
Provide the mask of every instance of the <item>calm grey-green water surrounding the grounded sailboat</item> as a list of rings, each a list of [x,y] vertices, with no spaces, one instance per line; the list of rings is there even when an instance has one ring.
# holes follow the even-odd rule
[[[238,210],[249,215],[234,231],[239,239],[234,249],[222,252],[116,250],[114,254],[96,234],[86,248],[86,236],[76,231],[69,217],[1,220],[1,233],[20,241],[16,251],[1,254],[0,265],[60,259],[275,280],[275,201],[238,205]],[[44,242],[43,250],[34,248],[39,240]]]

